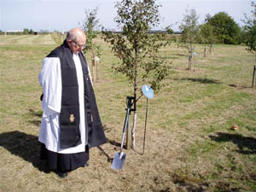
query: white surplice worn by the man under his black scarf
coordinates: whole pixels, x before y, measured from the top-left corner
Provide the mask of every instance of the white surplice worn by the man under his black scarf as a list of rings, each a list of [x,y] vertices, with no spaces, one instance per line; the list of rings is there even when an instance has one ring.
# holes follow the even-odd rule
[[[73,54],[79,84],[79,113],[81,144],[73,148],[61,148],[60,143],[60,113],[61,113],[61,61],[57,57],[46,57],[43,61],[39,82],[44,90],[42,101],[43,117],[38,141],[45,147],[60,154],[74,154],[84,152],[88,138],[85,138],[84,119],[84,79],[79,55]],[[88,71],[90,72],[89,68]]]

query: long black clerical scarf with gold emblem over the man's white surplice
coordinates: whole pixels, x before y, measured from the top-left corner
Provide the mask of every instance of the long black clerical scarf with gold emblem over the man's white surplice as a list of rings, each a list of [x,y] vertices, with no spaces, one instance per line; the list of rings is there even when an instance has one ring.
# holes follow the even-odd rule
[[[79,130],[79,84],[73,53],[65,40],[60,47],[52,50],[47,57],[58,57],[61,61],[61,114],[60,114],[60,139],[61,148],[71,148],[81,143]],[[88,137],[88,147],[96,147],[107,142],[102,121],[96,105],[96,97],[90,82],[87,62],[80,52],[84,77],[84,114],[85,132]]]

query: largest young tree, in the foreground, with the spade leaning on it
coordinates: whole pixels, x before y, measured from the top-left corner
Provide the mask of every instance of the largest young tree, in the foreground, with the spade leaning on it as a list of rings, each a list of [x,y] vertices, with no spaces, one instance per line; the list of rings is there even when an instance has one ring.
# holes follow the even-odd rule
[[[164,34],[148,34],[152,27],[160,24],[159,7],[155,0],[122,0],[116,3],[115,22],[122,29],[120,33],[104,32],[105,41],[120,63],[113,68],[123,73],[133,84],[134,115],[132,127],[132,147],[135,148],[135,128],[137,122],[138,87],[149,84],[155,91],[168,74],[166,62],[159,55],[159,49],[166,45],[161,41]]]

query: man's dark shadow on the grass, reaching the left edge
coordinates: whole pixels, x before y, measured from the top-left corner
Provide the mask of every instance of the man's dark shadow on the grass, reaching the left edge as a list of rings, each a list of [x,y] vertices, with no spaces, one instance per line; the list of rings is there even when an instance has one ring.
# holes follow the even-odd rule
[[[0,134],[0,146],[32,163],[40,172],[49,172],[40,160],[41,144],[38,142],[38,137],[20,131],[3,132]]]

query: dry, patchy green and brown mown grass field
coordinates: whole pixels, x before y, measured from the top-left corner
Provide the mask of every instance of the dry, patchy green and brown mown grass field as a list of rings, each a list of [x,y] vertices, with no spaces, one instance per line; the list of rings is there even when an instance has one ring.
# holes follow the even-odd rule
[[[161,54],[172,61],[166,86],[138,103],[137,151],[125,150],[124,170],[111,169],[132,88],[112,72],[116,58],[101,38],[103,54],[94,84],[109,143],[90,150],[89,167],[61,179],[39,160],[42,115],[38,73],[54,49],[50,35],[0,36],[0,191],[256,191],[256,89],[254,56],[243,46],[216,45],[186,70],[186,50],[171,44]],[[90,55],[87,55],[90,58]],[[230,129],[233,125],[238,130]]]

